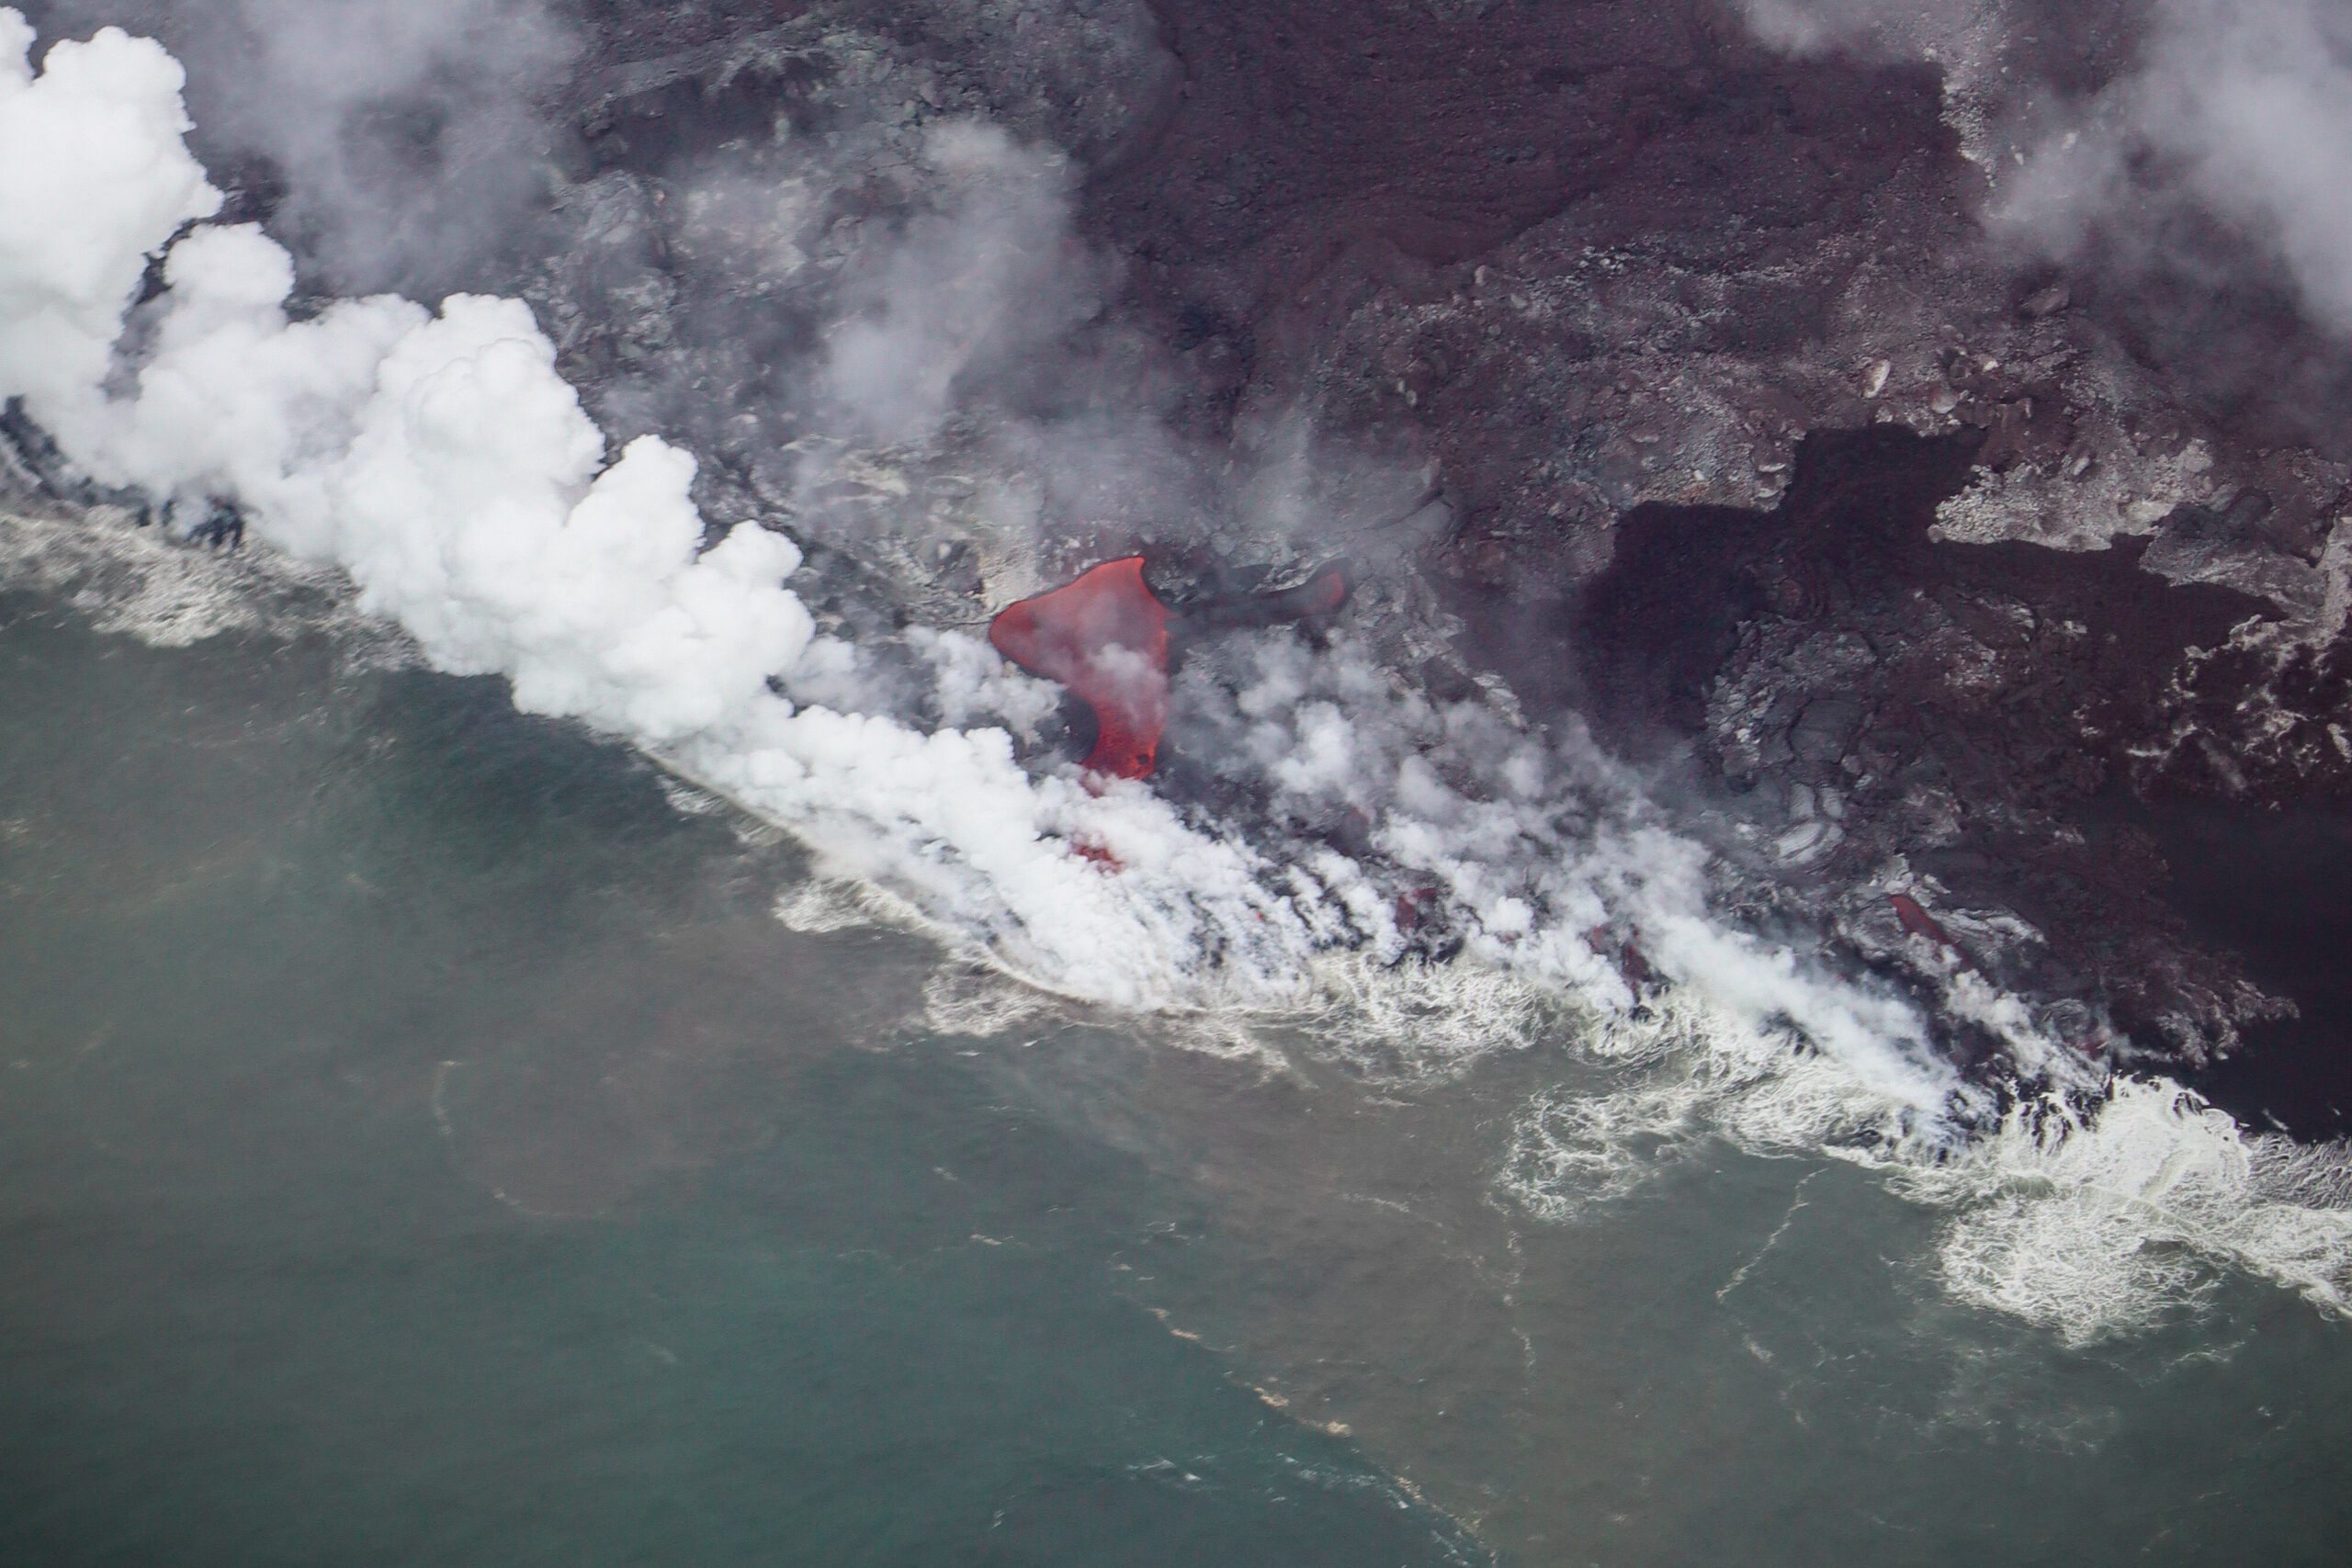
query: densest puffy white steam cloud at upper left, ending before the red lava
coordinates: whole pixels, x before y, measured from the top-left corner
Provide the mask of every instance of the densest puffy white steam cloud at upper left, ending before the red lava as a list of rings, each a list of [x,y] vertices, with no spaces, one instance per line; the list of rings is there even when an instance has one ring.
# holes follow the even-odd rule
[[[292,324],[287,254],[256,228],[172,247],[136,397],[103,376],[143,256],[219,195],[181,146],[179,66],[103,31],[56,45],[0,12],[0,393],[96,477],[235,498],[270,543],[343,564],[445,670],[501,672],[517,701],[666,743],[764,696],[809,639],[776,583],[800,564],[739,529],[696,559],[694,458],[604,442],[515,301],[390,299]],[[96,221],[85,214],[96,193]],[[21,197],[21,200],[19,200]]]

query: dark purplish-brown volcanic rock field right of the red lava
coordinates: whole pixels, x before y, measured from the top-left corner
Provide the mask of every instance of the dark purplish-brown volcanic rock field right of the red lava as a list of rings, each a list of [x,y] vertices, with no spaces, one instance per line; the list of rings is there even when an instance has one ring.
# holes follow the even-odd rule
[[[1886,961],[1910,889],[2086,1051],[2284,1011],[2103,806],[2352,788],[2347,475],[2213,360],[2340,346],[1987,254],[1931,71],[1710,5],[1157,9],[1178,106],[1087,226],[1202,428],[1303,400],[1432,456],[1461,646],[1686,759],[1764,912]]]

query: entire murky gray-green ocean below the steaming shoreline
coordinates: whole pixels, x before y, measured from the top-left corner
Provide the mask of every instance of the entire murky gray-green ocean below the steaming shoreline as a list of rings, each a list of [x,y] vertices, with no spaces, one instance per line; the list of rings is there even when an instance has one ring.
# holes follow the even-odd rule
[[[0,1561],[2352,1554],[2352,1326],[2105,1225],[2185,1166],[960,1011],[496,682],[101,618],[0,595]]]

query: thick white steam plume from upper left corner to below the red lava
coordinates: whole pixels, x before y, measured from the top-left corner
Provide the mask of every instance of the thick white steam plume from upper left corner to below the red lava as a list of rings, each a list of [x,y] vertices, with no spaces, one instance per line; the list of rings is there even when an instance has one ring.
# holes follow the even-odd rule
[[[235,498],[254,534],[346,567],[445,670],[501,672],[536,712],[673,755],[746,804],[823,823],[847,870],[913,891],[1011,961],[1129,1004],[1209,957],[1242,994],[1296,985],[1298,922],[1254,858],[1141,788],[1030,780],[1004,731],[913,733],[795,710],[769,675],[809,644],[790,541],[696,555],[694,458],[602,437],[517,301],[390,296],[289,322],[292,263],[252,228],[169,249],[136,395],[111,353],[146,256],[216,207],[181,146],[181,71],[148,40],[61,42],[35,78],[0,12],[0,393],[115,484]],[[1073,842],[1136,875],[1105,877]]]

